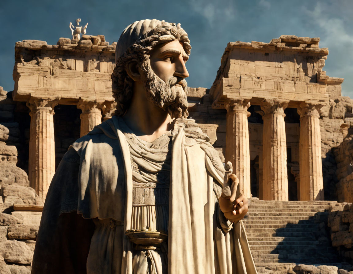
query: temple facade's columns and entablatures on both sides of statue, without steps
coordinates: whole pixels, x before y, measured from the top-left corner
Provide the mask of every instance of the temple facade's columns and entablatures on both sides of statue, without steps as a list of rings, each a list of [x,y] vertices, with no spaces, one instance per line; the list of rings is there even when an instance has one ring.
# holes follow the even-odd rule
[[[16,43],[12,98],[29,108],[28,175],[39,197],[46,197],[62,150],[114,113],[115,46],[103,35],[83,35],[78,43],[60,38],[57,45]],[[189,118],[221,159],[232,162],[247,197],[330,198],[325,190],[330,177],[325,182],[323,175],[331,169],[323,163],[347,137],[350,124],[332,114],[343,79],[322,70],[327,55],[319,38],[283,35],[270,43],[228,43],[213,86],[188,88]],[[57,119],[56,110],[62,113]],[[325,123],[333,125],[334,137]],[[62,143],[63,131],[76,133]]]

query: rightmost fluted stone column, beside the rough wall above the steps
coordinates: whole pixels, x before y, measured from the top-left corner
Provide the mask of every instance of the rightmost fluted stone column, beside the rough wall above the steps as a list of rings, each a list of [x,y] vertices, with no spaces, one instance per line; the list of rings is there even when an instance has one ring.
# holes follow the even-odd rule
[[[321,162],[320,110],[322,105],[301,103],[299,135],[300,200],[324,200]]]

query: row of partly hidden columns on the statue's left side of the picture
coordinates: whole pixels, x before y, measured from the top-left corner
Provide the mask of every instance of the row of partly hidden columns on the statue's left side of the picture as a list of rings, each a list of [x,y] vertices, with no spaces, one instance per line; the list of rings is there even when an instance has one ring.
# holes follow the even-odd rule
[[[55,173],[55,142],[54,142],[54,107],[59,104],[60,97],[31,97],[27,102],[30,108],[30,140],[28,177],[30,186],[36,193],[46,198],[50,181]],[[77,108],[80,114],[80,136],[86,135],[95,125],[109,119],[114,110],[115,102],[98,102],[81,98]]]

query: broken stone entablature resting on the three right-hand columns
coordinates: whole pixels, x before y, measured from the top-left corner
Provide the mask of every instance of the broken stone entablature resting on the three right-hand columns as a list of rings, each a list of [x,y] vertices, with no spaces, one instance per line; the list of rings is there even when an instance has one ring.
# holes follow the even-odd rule
[[[328,102],[327,82],[343,79],[326,76],[322,68],[327,48],[319,48],[320,38],[282,35],[270,43],[230,42],[210,89],[215,108],[227,100],[252,98],[252,105],[267,99],[289,100],[296,107],[305,100]]]

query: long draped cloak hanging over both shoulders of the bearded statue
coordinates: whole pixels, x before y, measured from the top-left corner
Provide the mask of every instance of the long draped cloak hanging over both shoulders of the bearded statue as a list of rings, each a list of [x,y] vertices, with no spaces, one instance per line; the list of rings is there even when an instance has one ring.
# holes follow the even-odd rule
[[[63,157],[43,208],[32,273],[86,273],[89,250],[101,249],[106,261],[95,273],[132,274],[133,247],[124,233],[131,225],[132,169],[119,119],[97,126]],[[223,165],[197,131],[183,123],[173,130],[168,273],[256,273],[242,221],[222,225]],[[114,256],[93,241],[92,219],[121,224],[118,240],[109,243]]]

